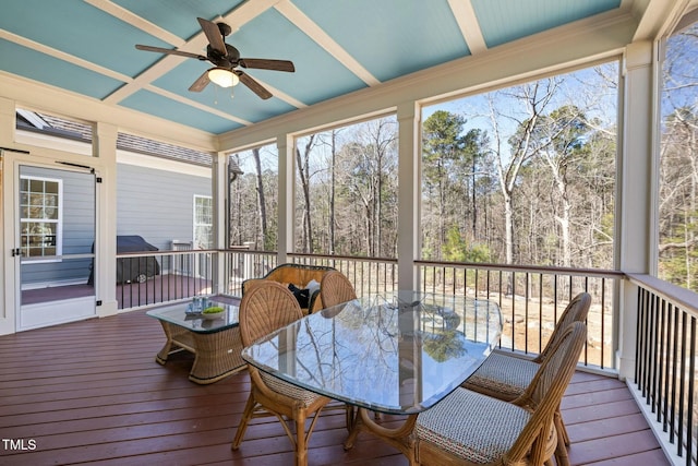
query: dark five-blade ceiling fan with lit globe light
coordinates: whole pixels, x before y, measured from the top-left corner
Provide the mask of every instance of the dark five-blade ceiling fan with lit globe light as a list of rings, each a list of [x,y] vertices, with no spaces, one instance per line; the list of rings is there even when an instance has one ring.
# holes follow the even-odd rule
[[[225,37],[231,33],[230,26],[226,23],[213,23],[210,21],[198,17],[208,45],[206,46],[206,56],[198,53],[190,53],[182,50],[172,50],[161,47],[152,47],[136,44],[139,50],[156,51],[167,55],[179,55],[181,57],[195,58],[202,61],[209,61],[214,64],[198,76],[196,81],[189,87],[192,92],[202,92],[209,82],[214,82],[221,87],[231,87],[241,82],[250,87],[252,92],[267,99],[272,97],[272,93],[262,84],[253,80],[241,68],[254,68],[258,70],[286,71],[292,73],[296,71],[292,61],[288,60],[268,60],[263,58],[240,58],[240,51],[233,46],[226,44]]]

